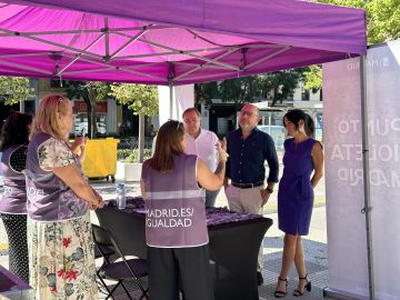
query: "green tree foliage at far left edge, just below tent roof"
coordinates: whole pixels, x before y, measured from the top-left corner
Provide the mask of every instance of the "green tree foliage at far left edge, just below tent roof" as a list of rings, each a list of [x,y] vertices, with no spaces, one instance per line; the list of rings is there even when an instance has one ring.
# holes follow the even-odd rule
[[[24,77],[0,76],[0,99],[6,106],[12,106],[27,100],[33,93],[29,79]]]

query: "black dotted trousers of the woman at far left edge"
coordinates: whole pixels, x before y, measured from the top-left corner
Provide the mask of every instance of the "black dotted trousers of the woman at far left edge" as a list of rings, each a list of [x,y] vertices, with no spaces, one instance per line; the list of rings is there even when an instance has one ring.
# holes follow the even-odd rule
[[[9,240],[9,270],[29,283],[27,214],[1,213]]]

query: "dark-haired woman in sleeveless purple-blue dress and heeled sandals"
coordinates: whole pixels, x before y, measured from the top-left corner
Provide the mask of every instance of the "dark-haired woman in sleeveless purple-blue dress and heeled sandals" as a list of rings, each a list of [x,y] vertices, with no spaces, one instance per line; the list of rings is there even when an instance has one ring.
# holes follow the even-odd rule
[[[302,110],[293,109],[284,114],[283,123],[292,138],[284,141],[284,168],[278,191],[278,220],[279,229],[284,232],[284,244],[276,298],[287,294],[287,277],[293,261],[299,274],[298,288],[293,296],[300,297],[306,290],[311,290],[301,236],[309,232],[313,188],[323,173],[322,146],[312,139],[312,118]]]

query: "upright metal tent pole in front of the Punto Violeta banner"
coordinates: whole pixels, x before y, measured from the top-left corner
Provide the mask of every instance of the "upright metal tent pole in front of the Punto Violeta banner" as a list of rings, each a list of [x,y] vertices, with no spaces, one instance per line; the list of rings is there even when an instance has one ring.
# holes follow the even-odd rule
[[[370,168],[369,168],[369,140],[368,140],[368,98],[367,98],[367,73],[366,56],[360,57],[360,88],[361,88],[361,126],[362,126],[362,167],[363,167],[363,192],[367,230],[367,258],[368,258],[368,282],[369,299],[374,300],[373,278],[373,251],[372,251],[372,227],[371,227],[371,194],[370,194]]]

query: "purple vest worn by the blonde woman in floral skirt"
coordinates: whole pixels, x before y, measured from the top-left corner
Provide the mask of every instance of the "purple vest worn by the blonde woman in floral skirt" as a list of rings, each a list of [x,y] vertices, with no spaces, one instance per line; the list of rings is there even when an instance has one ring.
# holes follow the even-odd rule
[[[52,171],[40,168],[38,149],[51,136],[37,133],[29,142],[27,157],[28,216],[36,221],[58,221],[87,213],[88,202],[79,198]],[[69,148],[66,144],[66,148]],[[73,156],[76,158],[76,156]],[[79,159],[74,159],[79,169]]]

